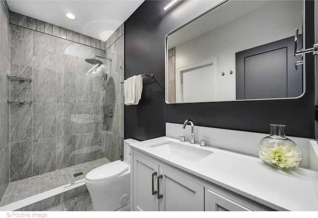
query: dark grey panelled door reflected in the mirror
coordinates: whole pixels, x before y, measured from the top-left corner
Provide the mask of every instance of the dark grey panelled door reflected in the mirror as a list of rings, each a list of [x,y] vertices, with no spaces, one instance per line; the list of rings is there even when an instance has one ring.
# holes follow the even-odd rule
[[[294,37],[236,53],[237,100],[300,96],[303,68],[294,65],[299,60],[302,57],[294,55]]]

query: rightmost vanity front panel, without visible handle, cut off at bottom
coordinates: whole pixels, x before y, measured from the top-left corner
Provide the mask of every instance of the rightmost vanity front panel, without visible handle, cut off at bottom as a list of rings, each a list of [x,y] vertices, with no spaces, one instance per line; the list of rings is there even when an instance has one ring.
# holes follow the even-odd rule
[[[207,189],[206,211],[250,211],[248,208]]]

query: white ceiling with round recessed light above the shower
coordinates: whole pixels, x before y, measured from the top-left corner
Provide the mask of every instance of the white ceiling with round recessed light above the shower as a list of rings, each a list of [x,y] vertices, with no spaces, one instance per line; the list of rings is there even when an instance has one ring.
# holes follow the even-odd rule
[[[144,0],[7,0],[11,11],[106,41]],[[71,12],[77,20],[65,16]]]

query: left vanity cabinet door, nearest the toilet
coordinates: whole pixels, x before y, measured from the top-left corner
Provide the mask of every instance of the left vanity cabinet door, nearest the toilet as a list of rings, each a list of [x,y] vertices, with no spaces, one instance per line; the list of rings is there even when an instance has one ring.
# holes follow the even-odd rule
[[[153,194],[153,189],[157,189],[159,165],[136,154],[133,156],[133,208],[135,211],[158,211],[157,193]]]

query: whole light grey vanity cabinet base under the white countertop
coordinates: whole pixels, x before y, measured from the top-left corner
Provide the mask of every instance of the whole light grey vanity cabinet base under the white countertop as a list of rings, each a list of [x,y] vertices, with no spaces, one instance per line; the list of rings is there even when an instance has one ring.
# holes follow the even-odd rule
[[[133,211],[272,211],[143,152],[131,154]]]

